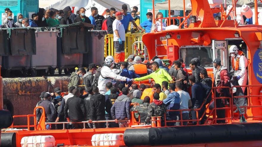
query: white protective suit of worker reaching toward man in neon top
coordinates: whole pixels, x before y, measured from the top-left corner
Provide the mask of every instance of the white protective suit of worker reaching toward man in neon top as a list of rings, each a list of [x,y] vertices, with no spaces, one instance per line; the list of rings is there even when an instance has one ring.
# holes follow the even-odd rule
[[[102,77],[104,77],[104,78],[102,78]],[[112,83],[113,79],[119,80],[119,81],[126,81],[127,80],[126,77],[122,77],[120,75],[115,74],[109,67],[103,66],[101,71],[100,71],[100,76],[99,76],[99,79],[98,79],[98,86],[97,86],[99,88],[100,94],[105,94],[107,92],[105,85],[106,85],[107,82]]]

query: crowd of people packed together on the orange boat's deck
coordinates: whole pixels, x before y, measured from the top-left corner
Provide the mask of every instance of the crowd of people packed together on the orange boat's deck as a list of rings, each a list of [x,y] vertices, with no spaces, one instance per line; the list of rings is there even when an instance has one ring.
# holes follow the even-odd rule
[[[231,48],[232,60],[241,58],[235,45]],[[116,64],[112,56],[107,56],[103,66],[94,63],[89,64],[87,71],[79,68],[72,72],[68,83],[68,94],[61,96],[60,88],[55,88],[53,93],[43,91],[41,100],[37,106],[43,106],[46,113],[46,122],[81,122],[88,121],[87,128],[103,128],[105,123],[94,123],[93,121],[115,120],[110,127],[127,127],[131,119],[131,111],[137,111],[135,118],[141,124],[150,124],[152,116],[161,116],[164,125],[164,114],[167,121],[183,120],[179,122],[168,122],[168,126],[187,125],[189,119],[196,120],[196,109],[198,111],[199,124],[206,121],[205,109],[210,103],[211,88],[216,89],[216,97],[230,97],[228,88],[232,84],[241,85],[243,78],[239,65],[235,70],[233,78],[230,79],[227,67],[221,64],[220,59],[213,62],[215,67],[214,83],[208,77],[207,70],[200,66],[198,58],[190,62],[192,75],[189,75],[182,59],[174,61],[172,66],[167,68],[157,56],[150,61],[143,61],[139,56],[130,55],[126,62]],[[232,62],[233,63],[233,62]],[[244,63],[245,64],[245,63]],[[119,69],[120,67],[120,69]],[[245,70],[245,69],[244,69]],[[144,71],[144,72],[143,72]],[[238,75],[237,75],[238,74]],[[244,74],[245,75],[245,74]],[[244,77],[245,78],[245,77]],[[135,81],[153,79],[152,82],[139,84]],[[236,82],[238,81],[238,82]],[[244,85],[244,84],[242,84]],[[151,97],[143,93],[151,88]],[[191,88],[189,94],[188,88]],[[243,96],[245,88],[238,88],[235,95]],[[223,108],[228,104],[227,99],[215,99],[216,108]],[[240,98],[238,105],[246,105],[245,98]],[[131,105],[132,104],[132,105]],[[214,102],[209,109],[214,108]],[[169,111],[177,110],[177,111]],[[179,111],[180,110],[180,111]],[[241,109],[241,113],[244,113]],[[38,110],[37,116],[40,119],[42,110]],[[139,115],[138,115],[139,114]],[[225,110],[216,110],[217,118],[225,118]],[[140,119],[138,119],[140,117]],[[196,121],[191,121],[196,124]],[[225,123],[224,119],[217,120],[217,123]],[[82,124],[73,123],[68,128],[81,128]],[[53,127],[54,128],[54,127]],[[55,128],[62,128],[59,124]]]

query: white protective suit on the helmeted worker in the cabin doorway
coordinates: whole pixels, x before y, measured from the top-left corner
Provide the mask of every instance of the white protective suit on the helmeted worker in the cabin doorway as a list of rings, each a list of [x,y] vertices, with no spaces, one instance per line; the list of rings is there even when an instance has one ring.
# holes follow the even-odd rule
[[[247,58],[244,55],[240,56],[239,54],[237,54],[237,56],[234,58],[235,65],[237,58],[239,58],[239,69],[235,71],[234,75],[240,76],[240,79],[238,80],[238,84],[240,86],[247,85]],[[246,87],[242,87],[243,92],[245,92],[245,89]]]

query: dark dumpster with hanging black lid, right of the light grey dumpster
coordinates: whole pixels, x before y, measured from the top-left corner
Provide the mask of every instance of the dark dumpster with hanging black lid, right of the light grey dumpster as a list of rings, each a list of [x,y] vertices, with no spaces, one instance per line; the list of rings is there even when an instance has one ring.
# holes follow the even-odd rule
[[[91,34],[82,23],[59,26],[57,37],[57,67],[61,75],[73,72],[75,67],[82,67],[83,53],[88,53]]]

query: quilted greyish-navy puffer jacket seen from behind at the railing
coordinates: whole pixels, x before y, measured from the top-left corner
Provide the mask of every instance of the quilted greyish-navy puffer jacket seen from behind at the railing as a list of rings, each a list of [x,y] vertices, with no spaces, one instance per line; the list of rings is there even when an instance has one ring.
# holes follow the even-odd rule
[[[122,94],[114,102],[111,108],[111,116],[113,119],[126,120],[130,119],[130,99],[127,95]]]

